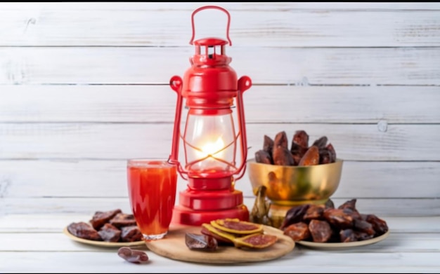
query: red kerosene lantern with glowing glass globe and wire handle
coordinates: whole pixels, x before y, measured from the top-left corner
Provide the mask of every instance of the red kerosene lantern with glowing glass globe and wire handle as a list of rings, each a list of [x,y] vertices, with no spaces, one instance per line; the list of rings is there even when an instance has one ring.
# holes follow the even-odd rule
[[[207,8],[228,15],[226,37],[194,40],[194,15]],[[169,162],[178,166],[179,174],[188,181],[188,188],[179,193],[174,207],[173,222],[199,226],[213,219],[249,219],[243,205],[242,192],[235,181],[245,173],[247,141],[243,93],[252,85],[247,76],[237,79],[226,55],[231,17],[219,6],[203,6],[193,11],[193,36],[190,44],[195,55],[183,79],[172,76],[169,85],[177,93],[176,118],[172,154]],[[183,99],[186,102],[186,123],[181,130]],[[236,116],[233,114],[235,103]],[[235,122],[234,122],[235,120]],[[183,123],[182,123],[183,125]],[[179,162],[179,143],[183,142],[184,164]],[[237,156],[237,151],[240,155]]]

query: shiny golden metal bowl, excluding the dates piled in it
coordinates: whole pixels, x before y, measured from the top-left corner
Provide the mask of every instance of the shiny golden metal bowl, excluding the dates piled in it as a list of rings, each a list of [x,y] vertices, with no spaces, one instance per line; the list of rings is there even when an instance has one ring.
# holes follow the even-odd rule
[[[275,205],[321,204],[335,193],[342,174],[341,159],[335,163],[305,167],[268,165],[247,161],[252,191],[257,196],[259,186],[266,186],[266,197]]]

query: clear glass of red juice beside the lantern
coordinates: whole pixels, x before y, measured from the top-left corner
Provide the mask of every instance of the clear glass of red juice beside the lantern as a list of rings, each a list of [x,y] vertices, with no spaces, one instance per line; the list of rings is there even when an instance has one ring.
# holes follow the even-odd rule
[[[131,211],[145,240],[169,231],[176,200],[177,167],[167,160],[127,160]]]

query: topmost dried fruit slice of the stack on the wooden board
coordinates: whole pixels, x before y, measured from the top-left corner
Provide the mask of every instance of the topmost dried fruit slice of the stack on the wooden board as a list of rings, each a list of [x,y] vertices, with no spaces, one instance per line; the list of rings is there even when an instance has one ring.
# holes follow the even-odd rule
[[[263,225],[254,224],[250,221],[241,221],[238,218],[235,219],[216,219],[210,222],[214,228],[218,228],[221,231],[228,233],[248,235],[254,233],[263,233]]]

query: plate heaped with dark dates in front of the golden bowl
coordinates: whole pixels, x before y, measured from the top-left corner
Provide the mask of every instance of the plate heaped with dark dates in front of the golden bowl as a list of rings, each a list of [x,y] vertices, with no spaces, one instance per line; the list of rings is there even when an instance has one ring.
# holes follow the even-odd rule
[[[375,214],[361,214],[356,199],[335,207],[305,204],[287,210],[280,229],[299,245],[320,249],[343,249],[371,245],[389,235],[387,222]]]

